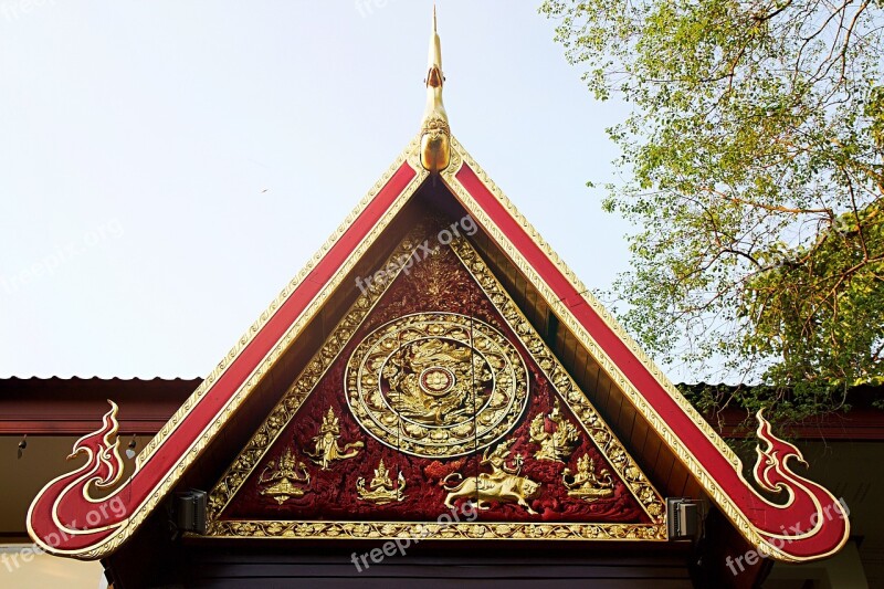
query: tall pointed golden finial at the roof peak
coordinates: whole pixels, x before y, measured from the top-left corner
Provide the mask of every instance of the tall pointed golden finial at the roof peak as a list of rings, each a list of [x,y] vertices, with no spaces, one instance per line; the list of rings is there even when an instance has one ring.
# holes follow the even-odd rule
[[[449,115],[442,104],[442,43],[436,33],[435,6],[433,6],[433,34],[430,36],[430,66],[427,72],[427,111],[421,124],[421,166],[438,173],[451,161],[451,128]]]

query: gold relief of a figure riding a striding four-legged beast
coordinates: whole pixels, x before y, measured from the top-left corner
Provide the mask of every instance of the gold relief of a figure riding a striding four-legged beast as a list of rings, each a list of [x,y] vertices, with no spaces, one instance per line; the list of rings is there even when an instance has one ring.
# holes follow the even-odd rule
[[[445,507],[453,509],[454,502],[459,498],[476,497],[476,507],[480,509],[487,509],[488,506],[484,504],[490,501],[498,503],[515,502],[525,507],[529,514],[537,515],[537,512],[532,509],[525,499],[534,498],[540,490],[540,484],[526,476],[519,476],[522,464],[524,463],[522,454],[516,454],[512,465],[507,464],[509,446],[513,445],[513,442],[515,440],[499,444],[491,455],[488,455],[488,449],[485,449],[480,465],[491,466],[492,472],[480,473],[477,480],[464,478],[461,473],[451,473],[440,481],[439,484],[449,492],[445,497]],[[454,476],[463,478],[463,481],[456,486],[449,486],[451,484],[450,478]]]

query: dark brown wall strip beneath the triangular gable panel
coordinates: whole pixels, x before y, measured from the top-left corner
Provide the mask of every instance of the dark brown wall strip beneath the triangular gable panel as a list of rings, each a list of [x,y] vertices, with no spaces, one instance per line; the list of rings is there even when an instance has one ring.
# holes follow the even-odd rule
[[[191,540],[192,541],[192,540]],[[187,540],[186,540],[187,544]],[[346,545],[265,541],[263,546],[200,544],[182,546],[165,574],[117,571],[116,588],[140,587],[592,587],[617,589],[682,589],[695,587],[685,547],[621,545],[511,546],[473,544],[454,547],[436,543],[410,547],[358,570],[354,554],[381,548],[383,540]],[[357,560],[359,557],[356,557]],[[115,559],[116,560],[116,559]],[[122,565],[117,561],[116,565]],[[130,572],[130,574],[129,574]],[[159,583],[159,585],[154,585]]]

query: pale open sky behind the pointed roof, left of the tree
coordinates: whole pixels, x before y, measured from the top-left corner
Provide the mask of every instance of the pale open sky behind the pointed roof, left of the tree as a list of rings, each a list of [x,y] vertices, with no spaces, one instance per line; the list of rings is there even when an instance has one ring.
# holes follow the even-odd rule
[[[539,1],[440,0],[452,132],[590,287],[628,264]],[[0,376],[207,375],[417,134],[429,0],[0,0]]]

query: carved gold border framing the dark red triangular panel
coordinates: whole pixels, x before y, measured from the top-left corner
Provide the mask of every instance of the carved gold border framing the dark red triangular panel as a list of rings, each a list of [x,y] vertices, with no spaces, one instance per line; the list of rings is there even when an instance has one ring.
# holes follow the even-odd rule
[[[415,229],[407,236],[380,267],[391,260],[410,254],[423,236]],[[606,461],[635,497],[651,519],[650,524],[575,524],[575,523],[459,523],[442,526],[445,532],[439,538],[491,538],[491,539],[666,539],[663,525],[665,507],[660,494],[653,488],[632,456],[596,412],[589,400],[570,378],[558,358],[546,346],[528,323],[508,293],[497,282],[476,251],[462,238],[452,242],[455,255],[476,280],[495,308],[504,317],[513,333],[519,337],[527,353],[538,364],[550,385],[564,399],[566,406],[604,455]],[[401,269],[400,269],[401,272]],[[386,287],[392,284],[390,280]],[[301,537],[315,539],[381,538],[417,536],[425,533],[427,523],[402,522],[297,522],[297,520],[224,520],[221,513],[230,504],[242,484],[252,475],[259,463],[278,439],[282,431],[294,419],[297,410],[322,380],[328,367],[339,356],[349,337],[358,329],[380,296],[364,293],[357,298],[340,323],[307,367],[298,375],[283,399],[274,407],[267,419],[246,443],[239,456],[209,493],[209,536],[213,537]],[[373,298],[373,302],[372,302]],[[544,368],[549,364],[551,368]],[[436,528],[433,528],[436,529]],[[433,536],[435,539],[436,536]]]

